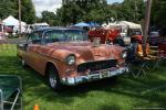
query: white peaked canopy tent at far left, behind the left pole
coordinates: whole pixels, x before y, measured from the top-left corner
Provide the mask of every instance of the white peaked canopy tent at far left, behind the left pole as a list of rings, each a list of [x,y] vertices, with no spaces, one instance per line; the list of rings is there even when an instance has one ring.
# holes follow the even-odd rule
[[[2,22],[7,26],[19,26],[19,20],[17,20],[15,18],[13,18],[12,15],[10,15],[7,19],[2,20]],[[25,26],[27,24],[25,24],[25,22],[21,21],[21,25]]]

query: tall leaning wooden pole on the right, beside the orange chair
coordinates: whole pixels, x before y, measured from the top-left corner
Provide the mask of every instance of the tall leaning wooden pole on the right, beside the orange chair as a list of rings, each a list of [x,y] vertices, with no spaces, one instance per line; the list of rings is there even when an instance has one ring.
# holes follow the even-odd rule
[[[143,36],[144,56],[146,56],[146,41],[147,41],[148,29],[149,29],[151,9],[152,9],[152,0],[147,0],[146,1],[146,12],[145,12],[144,36]]]

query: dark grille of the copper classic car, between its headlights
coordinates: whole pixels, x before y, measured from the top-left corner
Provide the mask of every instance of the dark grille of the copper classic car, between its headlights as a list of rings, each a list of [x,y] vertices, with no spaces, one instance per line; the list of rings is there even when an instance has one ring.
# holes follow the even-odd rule
[[[77,66],[77,73],[83,73],[86,70],[95,72],[95,70],[102,70],[102,69],[108,69],[111,67],[115,67],[116,63],[117,63],[117,59],[83,63]]]

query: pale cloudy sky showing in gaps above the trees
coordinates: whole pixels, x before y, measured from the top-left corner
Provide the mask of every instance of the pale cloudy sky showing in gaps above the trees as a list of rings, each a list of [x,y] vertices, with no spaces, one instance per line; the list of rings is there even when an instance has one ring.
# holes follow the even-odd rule
[[[35,12],[38,16],[41,16],[42,11],[55,12],[58,8],[61,8],[62,0],[32,0],[35,7]],[[122,2],[123,0],[107,0],[108,3]]]

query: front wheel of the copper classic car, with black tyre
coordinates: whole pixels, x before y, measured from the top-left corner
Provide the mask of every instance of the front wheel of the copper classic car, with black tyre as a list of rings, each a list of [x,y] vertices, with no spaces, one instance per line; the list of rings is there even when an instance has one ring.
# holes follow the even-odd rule
[[[46,79],[48,79],[49,86],[53,90],[59,91],[59,90],[62,89],[62,85],[60,82],[58,70],[56,70],[56,68],[53,65],[50,65],[46,68]]]

